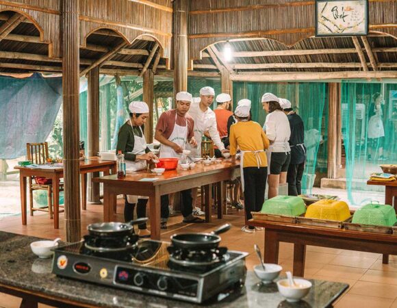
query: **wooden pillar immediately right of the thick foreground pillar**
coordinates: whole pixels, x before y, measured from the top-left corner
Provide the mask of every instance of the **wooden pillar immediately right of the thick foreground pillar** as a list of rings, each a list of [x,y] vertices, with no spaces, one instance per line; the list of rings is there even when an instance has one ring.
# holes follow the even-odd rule
[[[99,66],[92,68],[88,74],[87,101],[87,140],[88,157],[96,156],[99,152]],[[88,174],[88,201],[101,204],[99,201],[99,183],[92,183],[92,177],[99,177],[99,172]],[[85,194],[86,192],[82,192]]]

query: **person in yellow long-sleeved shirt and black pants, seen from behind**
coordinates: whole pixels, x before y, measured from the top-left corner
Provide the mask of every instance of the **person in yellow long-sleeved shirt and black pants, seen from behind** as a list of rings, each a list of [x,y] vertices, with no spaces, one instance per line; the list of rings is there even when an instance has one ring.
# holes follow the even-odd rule
[[[235,162],[238,148],[241,153],[240,170],[246,209],[246,225],[242,231],[255,233],[255,227],[248,225],[248,220],[253,218],[251,211],[260,211],[265,200],[268,175],[265,150],[269,147],[269,140],[259,123],[248,120],[250,109],[239,102],[234,112],[238,122],[231,125],[229,140],[232,162]]]

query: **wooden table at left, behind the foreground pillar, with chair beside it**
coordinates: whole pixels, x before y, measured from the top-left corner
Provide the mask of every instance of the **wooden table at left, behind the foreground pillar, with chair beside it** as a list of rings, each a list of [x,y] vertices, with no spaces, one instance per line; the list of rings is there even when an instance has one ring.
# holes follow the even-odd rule
[[[64,177],[64,168],[40,169],[15,166],[14,169],[19,170],[22,224],[27,224],[27,177],[47,177],[52,179],[53,186],[54,228],[59,229],[60,179]],[[114,175],[116,174],[116,162],[113,160],[101,160],[99,157],[88,157],[87,159],[80,161],[81,203],[83,205],[83,209],[86,209],[87,173],[91,172],[103,172],[104,175],[110,175],[110,172],[112,172]],[[31,213],[31,215],[33,215],[33,213]]]

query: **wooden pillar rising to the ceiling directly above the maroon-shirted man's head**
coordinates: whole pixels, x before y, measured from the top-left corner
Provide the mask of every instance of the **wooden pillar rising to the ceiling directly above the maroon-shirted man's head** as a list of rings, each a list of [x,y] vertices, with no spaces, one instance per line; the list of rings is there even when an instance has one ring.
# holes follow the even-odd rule
[[[174,93],[188,90],[188,0],[174,1]]]

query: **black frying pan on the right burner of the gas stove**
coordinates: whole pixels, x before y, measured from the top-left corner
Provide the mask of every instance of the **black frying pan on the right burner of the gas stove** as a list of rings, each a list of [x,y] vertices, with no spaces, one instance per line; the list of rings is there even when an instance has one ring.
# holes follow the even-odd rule
[[[172,245],[182,249],[212,249],[218,248],[220,236],[230,229],[230,224],[223,224],[211,233],[181,233],[171,236]]]

